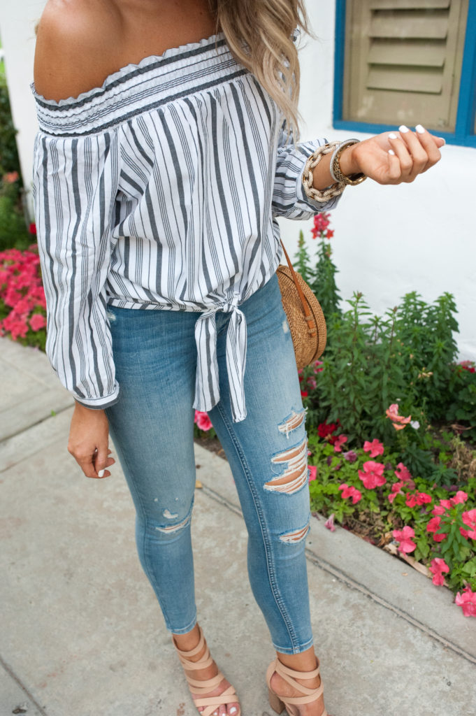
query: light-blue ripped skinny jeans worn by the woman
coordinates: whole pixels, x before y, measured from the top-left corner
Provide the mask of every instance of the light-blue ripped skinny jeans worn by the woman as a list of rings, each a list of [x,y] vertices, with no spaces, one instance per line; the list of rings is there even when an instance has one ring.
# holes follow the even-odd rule
[[[242,422],[231,417],[225,362],[230,314],[220,311],[220,402],[209,416],[230,463],[248,530],[251,589],[273,646],[294,654],[313,643],[304,553],[309,483],[301,391],[276,275],[240,309],[248,326],[248,414]],[[137,550],[167,629],[184,634],[197,619],[190,521],[195,322],[200,314],[115,306],[108,311],[121,392],[106,412],[137,511]]]

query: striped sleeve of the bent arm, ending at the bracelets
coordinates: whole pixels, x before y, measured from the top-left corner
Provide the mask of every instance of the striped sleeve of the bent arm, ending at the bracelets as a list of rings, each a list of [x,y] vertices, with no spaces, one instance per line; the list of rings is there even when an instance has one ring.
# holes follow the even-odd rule
[[[320,211],[330,211],[339,201],[340,195],[327,201],[314,201],[303,187],[303,170],[306,161],[318,147],[326,144],[325,139],[294,144],[289,137],[286,144],[286,122],[278,135],[278,155],[273,188],[273,216],[288,219],[309,219]]]

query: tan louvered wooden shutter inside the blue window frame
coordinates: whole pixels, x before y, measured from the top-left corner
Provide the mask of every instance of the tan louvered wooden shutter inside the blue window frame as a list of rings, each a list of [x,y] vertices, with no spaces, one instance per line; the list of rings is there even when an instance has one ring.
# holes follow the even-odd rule
[[[469,0],[347,0],[343,119],[455,129]]]

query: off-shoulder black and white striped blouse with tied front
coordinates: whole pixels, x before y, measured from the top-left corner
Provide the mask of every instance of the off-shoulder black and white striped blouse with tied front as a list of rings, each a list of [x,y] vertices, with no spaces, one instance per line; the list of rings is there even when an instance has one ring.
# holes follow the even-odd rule
[[[306,198],[306,159],[276,103],[219,33],[146,57],[76,99],[37,102],[34,199],[47,354],[83,405],[117,401],[107,304],[200,311],[194,407],[220,399],[216,311],[229,311],[234,419],[246,417],[239,305],[271,278],[276,216],[332,208]]]

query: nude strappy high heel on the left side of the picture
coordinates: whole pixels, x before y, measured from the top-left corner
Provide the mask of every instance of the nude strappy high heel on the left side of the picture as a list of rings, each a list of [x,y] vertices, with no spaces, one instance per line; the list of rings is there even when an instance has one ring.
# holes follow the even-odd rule
[[[205,669],[206,667],[209,667],[211,664],[213,664],[213,659],[212,657],[210,657],[210,649],[208,649],[208,644],[206,644],[205,642],[205,637],[203,636],[203,632],[200,626],[198,627],[198,630],[200,632],[200,641],[198,642],[198,646],[196,646],[195,649],[191,649],[190,652],[183,652],[178,649],[177,645],[175,644],[175,639],[173,639],[173,645],[178,652],[178,658],[180,659],[180,663],[182,664],[184,669],[190,671],[198,671],[198,669]],[[191,662],[190,657],[194,657],[195,654],[198,654],[203,649],[204,645],[206,648],[205,652],[203,653],[203,656],[198,659],[198,662]],[[220,684],[225,678],[220,671],[218,672],[218,674],[216,674],[216,676],[212,677],[211,679],[206,679],[205,681],[198,681],[197,679],[192,679],[187,674],[185,674],[185,678],[187,679],[188,688],[190,689],[190,693],[193,697],[195,706],[197,708],[205,707],[201,712],[201,716],[211,716],[214,711],[218,710],[219,706],[238,703],[238,696],[236,695],[233,686],[230,686],[228,687],[228,689],[225,689],[225,691],[219,696],[205,696],[205,694],[209,694],[210,691],[216,689],[218,684]],[[233,716],[241,716],[241,708],[239,707],[239,705],[238,712],[236,712]]]

